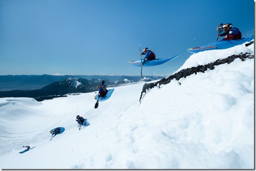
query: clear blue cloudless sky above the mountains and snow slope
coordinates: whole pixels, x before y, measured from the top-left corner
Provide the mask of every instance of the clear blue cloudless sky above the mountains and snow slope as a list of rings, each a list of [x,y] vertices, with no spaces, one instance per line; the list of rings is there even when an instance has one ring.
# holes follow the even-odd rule
[[[175,60],[143,69],[170,75],[188,48],[232,23],[254,34],[252,0],[0,0],[0,75],[140,75],[129,64],[148,47]]]

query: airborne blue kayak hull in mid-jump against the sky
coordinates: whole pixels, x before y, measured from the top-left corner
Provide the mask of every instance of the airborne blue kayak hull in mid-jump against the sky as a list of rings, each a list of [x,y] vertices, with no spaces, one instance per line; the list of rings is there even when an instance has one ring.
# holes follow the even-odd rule
[[[161,59],[154,59],[154,60],[147,60],[147,62],[143,65],[143,67],[152,67],[152,66],[156,66],[156,65],[161,65],[161,64],[164,64],[166,62],[169,62],[175,58],[177,58],[179,55],[175,55],[173,57],[169,57],[169,58],[161,58]],[[144,59],[143,59],[144,60]],[[142,60],[142,61],[143,61]],[[130,64],[132,64],[133,66],[135,67],[142,67],[141,64],[142,64],[142,61],[141,60],[133,60],[133,61],[129,61]]]

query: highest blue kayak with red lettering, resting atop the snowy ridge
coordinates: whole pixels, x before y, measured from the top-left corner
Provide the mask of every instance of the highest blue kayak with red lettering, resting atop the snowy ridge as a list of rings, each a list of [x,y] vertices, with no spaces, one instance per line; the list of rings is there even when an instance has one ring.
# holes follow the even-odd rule
[[[192,54],[195,54],[198,52],[214,50],[214,49],[227,49],[236,45],[241,45],[245,42],[250,42],[251,40],[254,40],[254,35],[246,38],[236,39],[236,40],[220,40],[220,41],[210,43],[201,47],[190,48],[187,51]]]

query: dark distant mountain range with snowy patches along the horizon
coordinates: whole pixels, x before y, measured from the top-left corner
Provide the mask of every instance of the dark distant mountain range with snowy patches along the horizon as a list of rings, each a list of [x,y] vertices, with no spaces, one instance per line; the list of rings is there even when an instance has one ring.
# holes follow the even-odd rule
[[[147,76],[144,81],[163,78]],[[0,76],[0,97],[31,97],[38,101],[66,96],[70,93],[97,91],[105,80],[107,86],[138,82],[140,76],[55,76],[55,75],[6,75]]]

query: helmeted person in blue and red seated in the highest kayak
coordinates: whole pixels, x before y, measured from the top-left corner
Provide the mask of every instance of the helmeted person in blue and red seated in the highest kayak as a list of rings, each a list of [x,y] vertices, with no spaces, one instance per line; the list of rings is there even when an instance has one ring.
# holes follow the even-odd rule
[[[218,34],[217,37],[225,36],[222,40],[233,40],[233,39],[241,39],[242,33],[239,29],[233,27],[232,24],[228,23],[222,26],[224,33]]]

